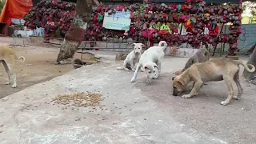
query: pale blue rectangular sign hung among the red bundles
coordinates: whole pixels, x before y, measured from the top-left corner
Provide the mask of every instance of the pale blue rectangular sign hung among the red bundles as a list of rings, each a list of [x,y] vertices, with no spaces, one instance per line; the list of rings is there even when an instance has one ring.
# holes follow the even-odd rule
[[[104,14],[103,27],[111,30],[130,30],[130,11],[117,11]]]

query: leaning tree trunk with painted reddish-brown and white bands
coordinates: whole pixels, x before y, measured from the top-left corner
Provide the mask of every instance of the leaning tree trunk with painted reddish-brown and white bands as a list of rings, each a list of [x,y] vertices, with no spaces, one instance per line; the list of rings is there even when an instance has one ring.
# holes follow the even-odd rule
[[[78,50],[78,46],[82,42],[87,26],[87,22],[90,22],[90,16],[92,13],[92,6],[97,4],[97,0],[78,0],[75,7],[75,16],[70,29],[66,32],[64,41],[60,48],[57,62],[62,60],[73,58],[75,52]]]

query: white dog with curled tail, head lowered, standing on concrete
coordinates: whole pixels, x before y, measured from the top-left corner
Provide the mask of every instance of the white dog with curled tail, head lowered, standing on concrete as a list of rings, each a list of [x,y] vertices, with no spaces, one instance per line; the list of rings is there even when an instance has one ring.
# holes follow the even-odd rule
[[[162,46],[163,45],[163,46]],[[135,82],[138,76],[138,70],[142,67],[147,74],[147,83],[151,82],[152,78],[158,78],[161,73],[162,59],[165,56],[167,43],[165,41],[159,42],[158,46],[152,46],[146,50],[139,59],[138,66],[134,72],[134,77],[130,82]]]

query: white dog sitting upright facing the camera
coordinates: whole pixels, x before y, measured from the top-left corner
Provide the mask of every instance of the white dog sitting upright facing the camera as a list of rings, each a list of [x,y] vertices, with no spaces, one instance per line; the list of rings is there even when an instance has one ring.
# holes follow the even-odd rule
[[[127,55],[125,61],[123,62],[123,67],[118,67],[118,70],[124,69],[129,71],[129,68],[133,71],[135,70],[135,66],[138,64],[139,58],[141,58],[142,47],[144,45],[142,43],[133,43],[131,46],[134,47],[134,50]]]

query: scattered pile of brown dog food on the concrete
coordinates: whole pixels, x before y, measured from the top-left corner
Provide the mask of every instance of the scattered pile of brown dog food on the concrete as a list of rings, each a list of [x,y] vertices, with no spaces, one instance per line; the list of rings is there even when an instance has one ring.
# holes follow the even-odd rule
[[[58,95],[56,98],[53,98],[52,102],[65,106],[88,107],[99,106],[102,100],[102,94],[78,93]]]

